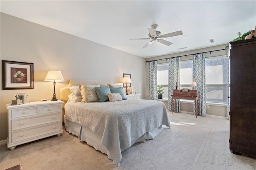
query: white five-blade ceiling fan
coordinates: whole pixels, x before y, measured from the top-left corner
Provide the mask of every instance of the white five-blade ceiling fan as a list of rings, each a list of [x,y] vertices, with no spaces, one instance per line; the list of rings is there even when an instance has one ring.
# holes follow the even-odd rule
[[[162,35],[162,33],[160,31],[157,31],[156,28],[158,27],[157,24],[151,25],[151,28],[148,28],[148,37],[149,38],[136,38],[136,39],[130,39],[130,40],[141,40],[141,39],[151,39],[146,45],[144,45],[143,48],[148,47],[150,44],[152,44],[154,41],[158,41],[159,43],[162,43],[164,45],[172,45],[171,42],[164,40],[163,38],[167,38],[167,37],[173,37],[173,36],[177,36],[177,35],[182,35],[182,31],[176,31],[176,32],[172,32],[172,33],[167,33]]]

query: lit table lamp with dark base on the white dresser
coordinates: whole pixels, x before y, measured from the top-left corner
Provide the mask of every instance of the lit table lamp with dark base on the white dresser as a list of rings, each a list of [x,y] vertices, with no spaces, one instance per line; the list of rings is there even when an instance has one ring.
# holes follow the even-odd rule
[[[53,97],[51,101],[57,101],[58,99],[56,98],[56,94],[55,94],[55,84],[56,82],[64,82],[64,78],[61,74],[61,71],[49,70],[48,73],[46,74],[44,81],[53,82]]]

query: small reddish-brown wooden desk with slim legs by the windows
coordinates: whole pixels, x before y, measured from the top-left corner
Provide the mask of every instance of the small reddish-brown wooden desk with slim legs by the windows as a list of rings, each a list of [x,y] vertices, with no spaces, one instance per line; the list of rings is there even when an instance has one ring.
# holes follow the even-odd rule
[[[197,113],[198,113],[198,91],[197,90],[188,89],[188,92],[182,92],[182,90],[179,90],[179,89],[173,90],[172,105],[174,100],[174,104],[175,104],[174,112],[176,112],[176,99],[194,100],[195,106],[196,106],[196,118],[197,118]]]

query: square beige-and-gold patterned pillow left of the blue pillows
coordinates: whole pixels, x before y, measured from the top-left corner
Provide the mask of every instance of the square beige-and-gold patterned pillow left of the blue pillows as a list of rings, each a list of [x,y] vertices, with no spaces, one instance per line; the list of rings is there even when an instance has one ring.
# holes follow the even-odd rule
[[[94,89],[94,87],[99,87],[100,85],[78,84],[78,86],[80,88],[80,92],[83,98],[81,103],[98,102],[98,96],[96,94],[96,90]]]

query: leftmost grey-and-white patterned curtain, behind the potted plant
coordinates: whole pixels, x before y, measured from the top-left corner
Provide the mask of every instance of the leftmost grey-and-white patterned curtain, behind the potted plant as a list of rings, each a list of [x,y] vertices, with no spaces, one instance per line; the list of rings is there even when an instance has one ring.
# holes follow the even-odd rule
[[[157,100],[157,61],[149,62],[149,99]]]

